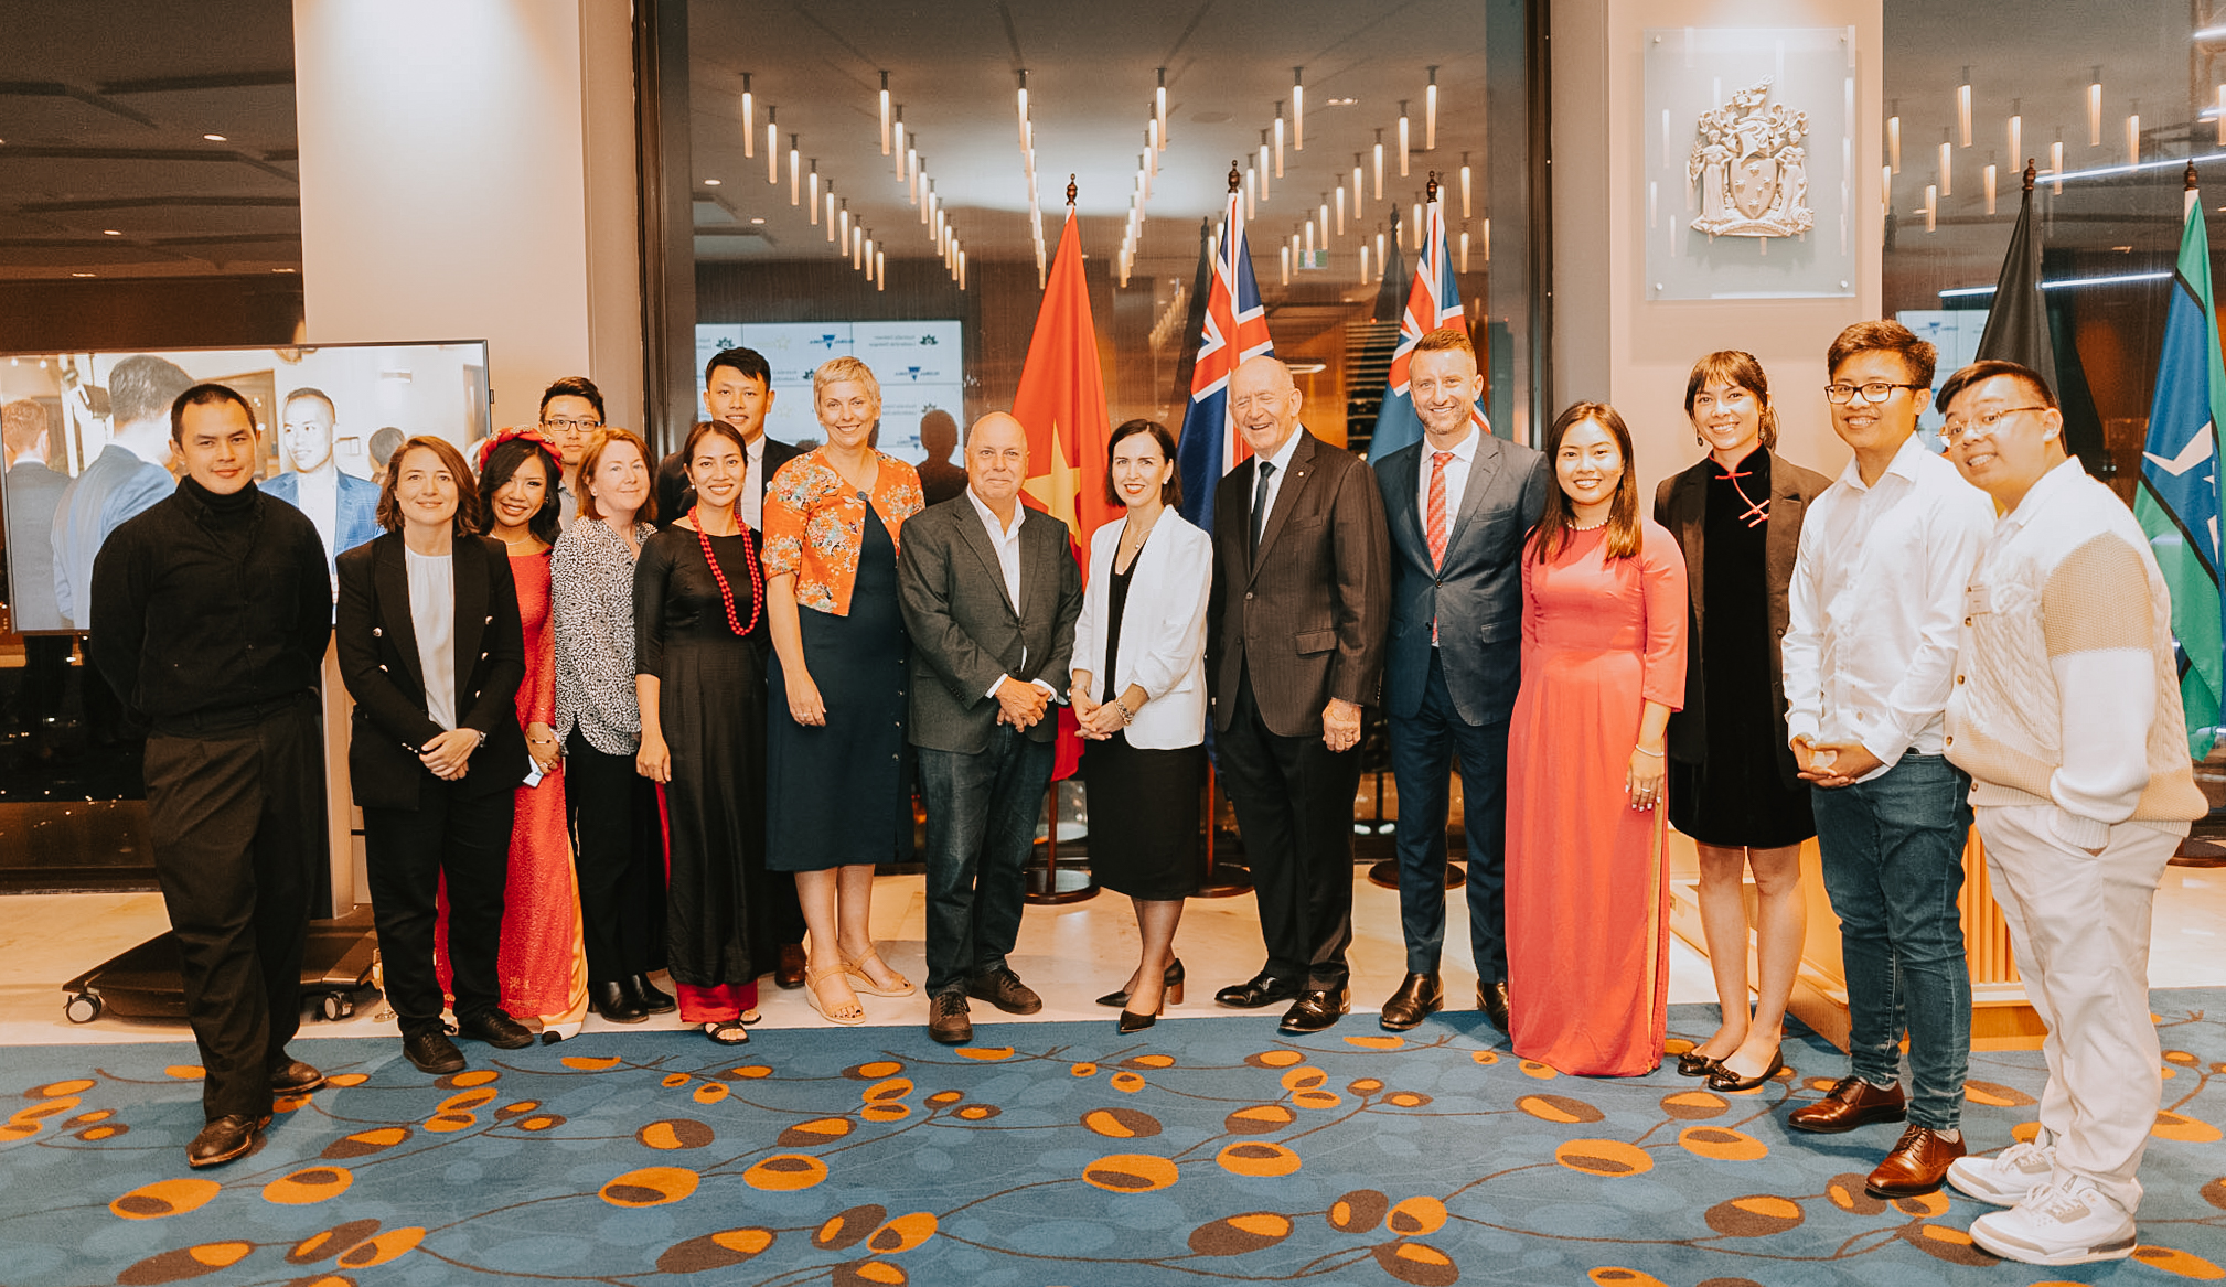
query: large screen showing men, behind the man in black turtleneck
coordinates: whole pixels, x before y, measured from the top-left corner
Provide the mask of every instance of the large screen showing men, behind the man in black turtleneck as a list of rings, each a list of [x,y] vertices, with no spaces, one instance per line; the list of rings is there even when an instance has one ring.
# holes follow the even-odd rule
[[[0,354],[18,632],[85,630],[93,557],[176,488],[169,405],[203,381],[256,410],[260,485],[309,510],[327,561],[376,534],[365,494],[396,445],[434,434],[467,448],[492,423],[485,341]]]

